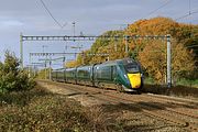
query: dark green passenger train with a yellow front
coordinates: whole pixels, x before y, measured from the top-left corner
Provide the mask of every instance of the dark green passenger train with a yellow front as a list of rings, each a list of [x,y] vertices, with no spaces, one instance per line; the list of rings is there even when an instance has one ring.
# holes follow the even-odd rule
[[[132,58],[53,69],[52,80],[138,92],[144,84],[141,64]]]

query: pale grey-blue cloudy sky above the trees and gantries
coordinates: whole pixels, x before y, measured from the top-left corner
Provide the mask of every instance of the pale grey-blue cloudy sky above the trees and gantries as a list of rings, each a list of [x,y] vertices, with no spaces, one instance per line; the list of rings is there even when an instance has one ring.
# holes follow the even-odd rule
[[[53,18],[46,11],[45,3]],[[189,4],[190,3],[190,4]],[[23,35],[100,35],[121,30],[140,19],[168,16],[177,19],[198,11],[197,0],[0,0],[0,61],[7,50],[20,57],[20,33]],[[198,13],[178,22],[198,24]],[[94,42],[24,42],[24,65],[29,53],[80,52],[70,46],[89,48]],[[67,48],[65,48],[67,45]],[[58,57],[58,56],[56,56]],[[75,56],[69,56],[70,59]],[[37,57],[31,62],[37,62]],[[59,64],[57,64],[59,65]]]

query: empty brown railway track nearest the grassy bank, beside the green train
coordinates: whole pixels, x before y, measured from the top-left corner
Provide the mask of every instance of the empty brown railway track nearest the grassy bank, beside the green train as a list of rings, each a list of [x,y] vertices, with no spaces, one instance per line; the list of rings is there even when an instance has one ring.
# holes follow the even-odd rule
[[[86,87],[86,86],[78,86],[78,85],[68,85],[68,84],[61,84],[61,82],[52,82],[52,81],[45,81],[48,84],[55,84],[56,86],[58,85],[59,87],[66,87],[67,89],[74,90],[76,92],[81,92],[85,95],[90,95],[94,98],[107,101],[108,103],[116,105],[116,103],[124,103],[124,105],[130,105],[132,103],[132,107],[135,109],[141,109],[146,116],[156,118],[157,120],[162,120],[175,125],[178,125],[180,128],[184,128],[189,131],[198,131],[198,118],[196,114],[191,113],[185,113],[184,111],[177,111],[172,108],[166,109],[161,109],[163,108],[162,105],[156,103],[156,105],[148,105],[148,103],[143,103],[144,100],[151,100],[152,97],[148,96],[146,97],[145,95],[138,95],[140,98],[133,98],[131,95],[125,95],[125,94],[117,94],[116,91],[105,91],[102,89],[96,89],[92,87]],[[163,100],[163,98],[155,98]],[[158,100],[158,101],[160,101]],[[165,99],[164,99],[165,100]],[[166,99],[168,100],[168,99]],[[169,100],[170,101],[170,100]],[[175,103],[180,103],[179,101],[177,102],[174,100]],[[183,117],[183,118],[180,118]],[[185,117],[185,120],[184,120]],[[193,122],[188,120],[194,120]]]

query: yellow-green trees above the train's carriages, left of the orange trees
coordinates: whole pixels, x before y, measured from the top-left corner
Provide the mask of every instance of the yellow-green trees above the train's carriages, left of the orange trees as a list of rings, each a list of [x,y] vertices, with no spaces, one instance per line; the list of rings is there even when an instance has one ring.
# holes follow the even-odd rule
[[[118,36],[106,38],[106,36]],[[106,62],[107,56],[92,55],[92,54],[109,54],[110,59],[123,58],[125,56],[122,41],[119,37],[123,36],[123,31],[108,31],[97,38],[91,48],[84,52],[84,56],[78,55],[77,61],[67,64],[67,67],[75,67],[79,65],[89,65],[95,63]],[[114,52],[117,45],[117,52]],[[119,54],[118,54],[119,53]]]

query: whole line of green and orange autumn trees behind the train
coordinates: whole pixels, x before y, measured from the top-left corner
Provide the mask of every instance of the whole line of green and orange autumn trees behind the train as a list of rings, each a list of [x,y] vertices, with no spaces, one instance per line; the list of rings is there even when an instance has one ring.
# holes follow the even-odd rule
[[[198,25],[175,22],[168,18],[153,18],[140,20],[125,30],[108,31],[102,35],[167,35],[172,36],[172,74],[175,79],[198,78]],[[145,74],[162,84],[166,79],[166,41],[163,40],[135,40],[128,41],[129,52],[125,53],[124,40],[98,38],[90,50],[78,55],[77,61],[66,64],[67,67],[89,65],[107,61],[106,56],[90,56],[89,53],[109,53],[109,59],[131,57],[139,61]],[[87,55],[86,55],[87,54]]]

